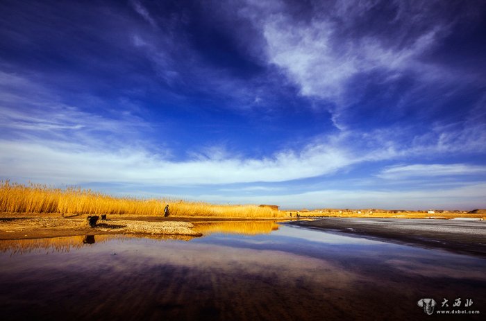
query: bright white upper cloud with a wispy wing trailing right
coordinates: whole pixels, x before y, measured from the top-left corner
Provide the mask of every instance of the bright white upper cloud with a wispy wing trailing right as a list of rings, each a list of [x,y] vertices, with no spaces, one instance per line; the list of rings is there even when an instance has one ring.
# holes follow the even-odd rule
[[[346,15],[347,10],[344,11],[337,8],[333,14]],[[370,36],[336,39],[344,23],[334,22],[330,13],[301,23],[296,23],[290,15],[279,13],[268,15],[260,23],[268,44],[269,61],[285,69],[301,87],[303,95],[336,103],[342,103],[347,83],[358,73],[373,69],[390,73],[420,69],[419,75],[426,74],[427,69],[417,58],[434,46],[445,28],[435,26],[417,36],[409,46],[399,48],[385,46],[378,38]]]

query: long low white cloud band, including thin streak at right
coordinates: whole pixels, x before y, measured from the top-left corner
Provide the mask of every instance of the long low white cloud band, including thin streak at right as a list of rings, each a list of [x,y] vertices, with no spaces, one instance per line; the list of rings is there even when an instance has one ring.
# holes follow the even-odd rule
[[[60,131],[59,128],[49,130]],[[112,139],[87,135],[78,140],[2,139],[0,175],[18,180],[37,180],[52,184],[83,182],[132,182],[133,184],[163,184],[168,186],[225,185],[252,183],[241,191],[270,191],[276,186],[258,187],[260,182],[291,182],[310,177],[331,176],[366,163],[394,162],[403,157],[420,157],[434,151],[435,146],[420,153],[413,150],[379,148],[362,150],[351,146],[355,137],[319,139],[300,150],[280,150],[262,158],[243,157],[224,148],[202,148],[184,159],[173,159],[168,151],[155,154],[149,146],[113,144]],[[33,166],[35,162],[35,166]],[[410,177],[444,175],[485,175],[485,166],[468,164],[414,164],[388,166],[380,171],[383,179],[405,180]],[[278,187],[278,186],[277,186]]]

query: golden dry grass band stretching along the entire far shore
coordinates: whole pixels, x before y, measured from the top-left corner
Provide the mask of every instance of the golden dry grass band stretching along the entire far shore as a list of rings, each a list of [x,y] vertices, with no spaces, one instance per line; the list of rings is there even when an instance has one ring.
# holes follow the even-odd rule
[[[42,184],[16,184],[0,181],[0,213],[78,215],[162,216],[169,205],[171,217],[208,218],[296,218],[305,217],[370,217],[370,218],[486,218],[483,210],[476,213],[459,211],[387,211],[383,209],[306,209],[277,211],[257,205],[214,205],[166,198],[145,199],[115,197],[90,189],[56,189]]]

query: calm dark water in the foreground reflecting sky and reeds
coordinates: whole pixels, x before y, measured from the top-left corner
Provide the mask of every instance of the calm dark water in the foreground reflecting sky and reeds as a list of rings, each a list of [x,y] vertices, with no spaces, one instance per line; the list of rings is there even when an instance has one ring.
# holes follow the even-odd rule
[[[253,224],[253,225],[252,225]],[[276,223],[0,241],[1,320],[480,320],[486,260]],[[94,243],[93,243],[94,242]],[[426,315],[417,306],[482,315]],[[444,298],[449,308],[442,308]],[[461,298],[460,307],[453,308]],[[473,304],[464,307],[465,301]]]

